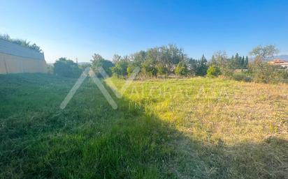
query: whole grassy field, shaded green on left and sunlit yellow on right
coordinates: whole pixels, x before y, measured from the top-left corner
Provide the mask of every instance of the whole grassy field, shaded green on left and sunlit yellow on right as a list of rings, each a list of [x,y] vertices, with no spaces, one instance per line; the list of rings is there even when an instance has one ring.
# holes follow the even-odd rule
[[[287,84],[76,80],[0,76],[0,178],[288,178]]]

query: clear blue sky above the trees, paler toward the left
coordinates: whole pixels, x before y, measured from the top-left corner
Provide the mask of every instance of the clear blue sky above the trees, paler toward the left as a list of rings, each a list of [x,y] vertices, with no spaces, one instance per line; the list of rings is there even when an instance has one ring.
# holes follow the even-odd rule
[[[246,56],[257,45],[288,54],[287,10],[285,0],[0,0],[0,33],[35,42],[48,63],[171,43],[194,59],[219,50]]]

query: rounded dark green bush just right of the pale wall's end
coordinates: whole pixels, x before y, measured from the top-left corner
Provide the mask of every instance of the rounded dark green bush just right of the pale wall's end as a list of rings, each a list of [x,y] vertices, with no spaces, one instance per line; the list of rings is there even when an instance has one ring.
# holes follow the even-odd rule
[[[54,63],[54,74],[61,75],[62,77],[79,77],[82,70],[77,63],[66,59],[60,58]]]

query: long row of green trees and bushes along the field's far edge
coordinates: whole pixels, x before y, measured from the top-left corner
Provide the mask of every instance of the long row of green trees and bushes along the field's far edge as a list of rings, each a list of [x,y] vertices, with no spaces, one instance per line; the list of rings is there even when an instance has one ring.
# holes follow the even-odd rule
[[[104,59],[100,54],[92,56],[91,67],[100,75],[99,68],[103,68],[107,75],[117,77],[129,77],[134,69],[140,68],[139,78],[150,77],[223,77],[241,81],[287,81],[287,70],[266,63],[267,59],[277,54],[278,49],[273,45],[255,47],[250,52],[253,59],[248,56],[240,56],[236,53],[229,57],[226,52],[215,52],[210,61],[206,56],[201,59],[193,59],[185,54],[177,45],[163,45],[147,50],[141,50],[129,56],[115,54],[112,61]],[[71,63],[68,59],[62,59],[61,63]],[[55,68],[59,61],[55,63]],[[74,69],[77,65],[72,65]],[[63,66],[61,68],[63,70]],[[71,71],[71,70],[70,70]],[[72,70],[73,71],[73,70]],[[59,73],[59,72],[58,72]],[[279,80],[280,79],[280,80]]]

